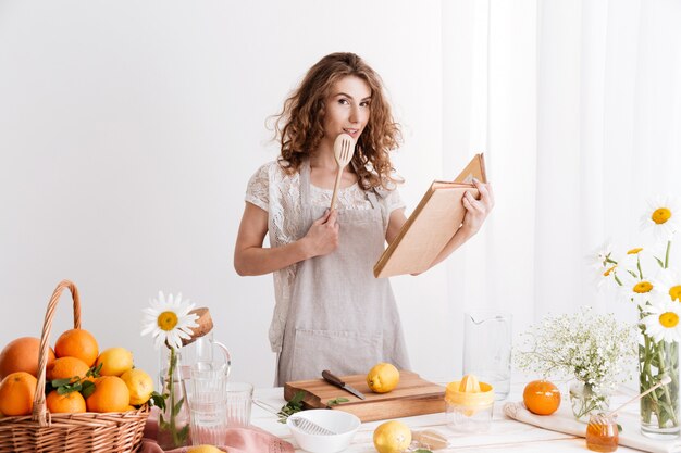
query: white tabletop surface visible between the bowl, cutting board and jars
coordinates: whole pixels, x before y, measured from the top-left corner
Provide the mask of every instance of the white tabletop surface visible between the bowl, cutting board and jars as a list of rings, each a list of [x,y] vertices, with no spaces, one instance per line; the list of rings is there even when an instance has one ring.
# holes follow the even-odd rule
[[[523,385],[521,383],[515,385],[507,401],[520,401],[521,398],[519,398],[519,395],[521,394],[522,388]],[[256,390],[255,398],[275,407],[281,407],[286,403],[284,401],[284,391],[282,388],[258,389]],[[623,402],[624,399],[626,395],[616,398],[614,399],[612,404],[618,405],[620,401]],[[507,418],[502,413],[503,403],[504,402],[496,402],[495,404],[493,424],[490,432],[484,435],[457,436],[454,441],[450,439],[450,442],[454,443],[453,446],[446,450],[437,450],[437,452],[589,452],[583,438],[575,438],[570,435],[548,431]],[[569,404],[569,402],[564,399],[561,404]],[[635,405],[635,403],[632,404],[632,406],[634,406],[634,411]],[[446,429],[444,413],[406,417],[400,418],[400,420],[408,425],[412,430],[425,428]],[[304,450],[300,450],[286,425],[277,423],[276,416],[273,414],[253,405],[251,421],[253,425],[290,442],[297,453],[305,452]],[[373,446],[372,440],[373,430],[383,421],[384,420],[362,424],[359,431],[355,436],[352,443],[345,452],[375,453],[376,451]],[[617,451],[627,453],[637,452],[639,450],[632,450],[620,445]]]

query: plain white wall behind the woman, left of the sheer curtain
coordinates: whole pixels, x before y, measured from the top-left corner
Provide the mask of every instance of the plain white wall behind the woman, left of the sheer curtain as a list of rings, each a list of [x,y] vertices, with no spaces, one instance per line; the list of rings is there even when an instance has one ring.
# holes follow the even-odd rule
[[[69,278],[100,345],[129,348],[138,366],[156,370],[140,311],[159,289],[182,291],[210,307],[235,379],[271,385],[272,278],[238,277],[232,254],[246,183],[276,155],[264,121],[305,71],[326,53],[354,51],[383,76],[404,126],[395,160],[408,206],[469,158],[465,140],[445,139],[443,151],[442,56],[453,47],[443,50],[441,2],[338,8],[0,2],[0,344],[38,336],[53,287]],[[465,63],[469,35],[456,36]],[[394,287],[413,368],[456,376],[460,319],[447,318],[456,288],[449,298],[446,268]],[[66,302],[53,339],[69,326]]]

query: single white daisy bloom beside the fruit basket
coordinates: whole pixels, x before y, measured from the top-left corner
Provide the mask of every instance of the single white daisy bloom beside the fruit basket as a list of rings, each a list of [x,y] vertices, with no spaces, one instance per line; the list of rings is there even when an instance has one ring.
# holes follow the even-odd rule
[[[151,334],[154,345],[158,349],[164,342],[173,349],[182,348],[182,340],[191,338],[191,327],[198,327],[196,323],[198,315],[189,313],[194,310],[194,304],[186,300],[182,301],[182,293],[176,298],[159,291],[159,299],[149,301],[151,306],[143,310],[145,314],[144,328],[141,335]]]

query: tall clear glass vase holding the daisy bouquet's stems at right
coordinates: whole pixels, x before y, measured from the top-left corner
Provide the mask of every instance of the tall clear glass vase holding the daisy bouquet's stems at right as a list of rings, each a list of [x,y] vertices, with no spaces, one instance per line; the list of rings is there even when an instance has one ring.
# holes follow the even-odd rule
[[[679,437],[679,343],[655,341],[642,334],[639,345],[639,385],[641,392],[658,383],[664,376],[671,382],[641,399],[641,432],[653,439]]]

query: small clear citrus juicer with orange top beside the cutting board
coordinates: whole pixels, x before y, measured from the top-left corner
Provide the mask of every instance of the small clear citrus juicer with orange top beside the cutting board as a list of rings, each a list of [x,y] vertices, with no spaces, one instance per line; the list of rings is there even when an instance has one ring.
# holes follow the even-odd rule
[[[460,433],[485,432],[492,426],[494,389],[473,375],[449,382],[445,392],[447,427]]]

